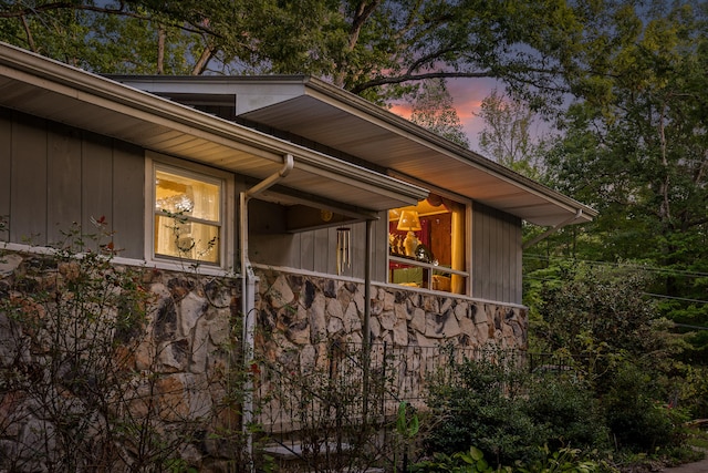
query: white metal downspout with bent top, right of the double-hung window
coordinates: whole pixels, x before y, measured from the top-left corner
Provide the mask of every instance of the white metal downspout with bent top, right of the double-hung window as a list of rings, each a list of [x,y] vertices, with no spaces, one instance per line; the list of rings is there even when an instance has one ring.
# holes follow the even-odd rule
[[[243,369],[248,370],[253,360],[256,336],[256,275],[248,257],[248,203],[251,197],[264,192],[283,179],[294,166],[291,154],[283,156],[283,167],[248,191],[239,193],[239,240],[241,250],[241,312],[243,315]],[[247,451],[252,453],[253,439],[249,425],[253,421],[253,382],[247,379],[243,390],[243,415],[241,430],[247,439]],[[252,465],[251,465],[252,467]]]

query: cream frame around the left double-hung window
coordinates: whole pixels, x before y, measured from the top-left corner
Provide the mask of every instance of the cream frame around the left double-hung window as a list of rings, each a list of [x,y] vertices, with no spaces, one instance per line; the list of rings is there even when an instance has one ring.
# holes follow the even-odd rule
[[[199,265],[205,268],[219,268],[230,270],[233,267],[233,222],[235,222],[235,178],[231,173],[205,166],[201,164],[160,155],[153,152],[146,152],[145,158],[145,259],[146,263],[155,263],[160,265],[175,265],[184,268],[185,264]],[[220,188],[219,204],[219,243],[217,245],[219,251],[218,263],[210,263],[200,259],[171,257],[155,253],[155,217],[158,215],[155,209],[156,199],[156,173],[163,171],[186,178],[192,178],[209,184],[217,184]],[[200,218],[189,218],[195,223],[207,223]]]

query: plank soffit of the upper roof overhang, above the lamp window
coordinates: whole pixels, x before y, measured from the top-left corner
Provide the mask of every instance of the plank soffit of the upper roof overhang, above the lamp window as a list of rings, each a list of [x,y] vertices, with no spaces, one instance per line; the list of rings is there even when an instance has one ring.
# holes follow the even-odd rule
[[[360,97],[313,79],[301,93],[239,116],[362,158],[542,226],[590,222],[596,212]],[[238,94],[237,94],[238,103]]]

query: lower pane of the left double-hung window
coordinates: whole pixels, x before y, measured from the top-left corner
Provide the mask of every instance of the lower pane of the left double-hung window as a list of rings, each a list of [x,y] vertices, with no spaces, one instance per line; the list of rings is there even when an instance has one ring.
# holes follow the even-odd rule
[[[219,227],[156,215],[155,254],[219,264]]]

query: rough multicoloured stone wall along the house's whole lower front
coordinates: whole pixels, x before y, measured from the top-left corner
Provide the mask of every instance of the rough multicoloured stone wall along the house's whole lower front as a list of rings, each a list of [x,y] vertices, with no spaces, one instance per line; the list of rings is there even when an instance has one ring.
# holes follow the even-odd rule
[[[148,459],[204,472],[242,464],[230,377],[242,366],[239,280],[112,265],[101,287],[113,302],[87,302],[76,318],[75,292],[64,289],[80,280],[81,268],[0,254],[0,472],[82,467],[67,465],[71,459],[116,472]],[[128,273],[133,279],[121,279]],[[256,348],[264,362],[303,370],[326,363],[334,340],[363,341],[362,282],[266,269],[258,277]],[[145,296],[144,320],[118,323],[131,313],[127,286],[113,287],[114,280],[133,281]],[[58,329],[62,317],[73,317],[71,330]],[[403,287],[374,286],[369,328],[376,347],[527,343],[522,308]],[[425,360],[408,364],[415,370]]]

